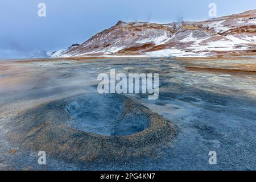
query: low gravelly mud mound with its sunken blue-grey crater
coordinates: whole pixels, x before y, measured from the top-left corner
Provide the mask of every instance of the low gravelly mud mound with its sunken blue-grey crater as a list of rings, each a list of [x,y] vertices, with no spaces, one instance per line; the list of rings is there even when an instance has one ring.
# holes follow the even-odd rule
[[[88,101],[91,98],[92,102]],[[76,123],[77,116],[81,113],[76,114],[79,111],[75,107],[81,107],[81,103],[84,102],[89,103],[85,106],[92,107],[96,98],[99,98],[98,101],[102,101],[103,98],[105,104],[109,101],[109,104],[117,110],[107,132],[98,130],[106,127],[104,125],[92,128],[87,125],[89,130],[86,131],[84,127],[80,129],[80,124]],[[78,106],[74,105],[77,101],[80,102]],[[94,106],[97,109],[97,103]],[[107,107],[106,110],[109,108]],[[85,109],[86,114],[97,114],[97,112],[88,113],[90,111],[94,111],[94,108]],[[105,115],[100,117],[105,117]],[[109,118],[106,117],[106,119]],[[82,118],[81,121],[84,120],[86,118]],[[19,143],[21,147],[35,151],[43,150],[57,158],[76,162],[89,162],[97,159],[121,160],[152,155],[152,150],[158,148],[159,144],[170,141],[175,135],[174,127],[162,116],[118,94],[103,96],[85,94],[51,102],[23,113],[15,119],[13,127],[15,131],[10,133],[9,138]],[[97,134],[98,131],[102,133]]]

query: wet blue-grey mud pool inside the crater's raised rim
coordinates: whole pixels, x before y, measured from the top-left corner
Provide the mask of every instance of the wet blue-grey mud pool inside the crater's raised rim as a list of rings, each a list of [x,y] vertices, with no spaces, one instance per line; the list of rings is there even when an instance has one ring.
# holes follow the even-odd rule
[[[77,97],[65,109],[71,116],[69,126],[105,136],[126,136],[139,133],[150,124],[144,113],[126,113],[127,102],[118,94],[88,94]]]

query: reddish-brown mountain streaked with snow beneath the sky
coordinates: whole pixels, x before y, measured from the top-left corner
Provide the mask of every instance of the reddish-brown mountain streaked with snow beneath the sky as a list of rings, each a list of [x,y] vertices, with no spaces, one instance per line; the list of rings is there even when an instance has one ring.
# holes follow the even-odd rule
[[[82,44],[52,53],[72,56],[256,55],[256,10],[203,22],[119,21]]]

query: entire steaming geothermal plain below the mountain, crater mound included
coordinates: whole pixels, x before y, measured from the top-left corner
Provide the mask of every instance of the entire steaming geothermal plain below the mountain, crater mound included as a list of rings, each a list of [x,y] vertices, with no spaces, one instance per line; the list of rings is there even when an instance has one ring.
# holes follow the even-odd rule
[[[255,61],[1,60],[0,170],[255,170]],[[99,94],[110,69],[159,73],[159,98]]]

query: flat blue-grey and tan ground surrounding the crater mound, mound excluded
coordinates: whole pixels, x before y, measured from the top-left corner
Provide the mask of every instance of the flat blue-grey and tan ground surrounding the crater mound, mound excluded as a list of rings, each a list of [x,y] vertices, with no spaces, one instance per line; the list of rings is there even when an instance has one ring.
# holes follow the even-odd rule
[[[188,66],[225,67],[253,64],[250,60],[90,59],[37,60],[0,63],[0,169],[2,170],[255,170],[256,75],[254,72],[193,71]],[[49,103],[67,101],[96,92],[98,73],[160,73],[159,99],[129,95],[175,127],[158,142],[137,143],[154,150],[143,155],[104,156],[93,160],[69,160],[58,152],[47,155],[40,166],[38,143],[24,144],[24,128],[46,123],[53,114],[40,110]],[[53,105],[52,112],[55,113]],[[40,112],[38,112],[40,110]],[[25,114],[26,118],[22,118]],[[65,115],[59,115],[63,122]],[[28,122],[29,121],[29,122]],[[30,123],[31,122],[31,123]],[[24,129],[23,128],[23,129]],[[51,128],[55,131],[55,128]],[[56,129],[56,131],[59,131]],[[43,135],[40,135],[41,137]],[[49,138],[44,136],[45,138]],[[44,138],[43,137],[43,138]],[[70,137],[70,136],[69,136]],[[41,138],[42,139],[42,138]],[[57,138],[56,138],[57,139]],[[70,139],[70,138],[69,138]],[[20,140],[20,142],[19,142]],[[43,141],[43,139],[41,140]],[[51,142],[44,140],[44,142]],[[54,146],[54,145],[53,145]],[[79,148],[75,145],[72,150]],[[157,147],[156,147],[157,146]],[[46,148],[47,149],[47,148]],[[67,154],[76,158],[75,153]],[[130,146],[123,149],[131,150]],[[88,151],[91,151],[88,149]],[[217,152],[217,164],[208,163],[209,151]],[[66,151],[68,152],[68,151]],[[150,154],[150,155],[148,155]],[[85,158],[88,158],[85,154]]]

